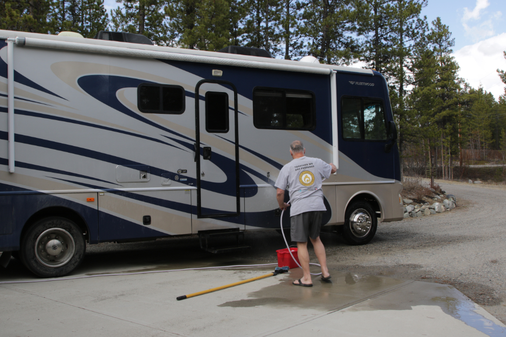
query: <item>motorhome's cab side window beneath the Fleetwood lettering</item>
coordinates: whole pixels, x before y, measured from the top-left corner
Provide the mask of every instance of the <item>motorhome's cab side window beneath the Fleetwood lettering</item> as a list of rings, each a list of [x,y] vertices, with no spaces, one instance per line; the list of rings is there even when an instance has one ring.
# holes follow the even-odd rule
[[[370,98],[343,98],[342,137],[348,140],[386,140],[383,102]]]

